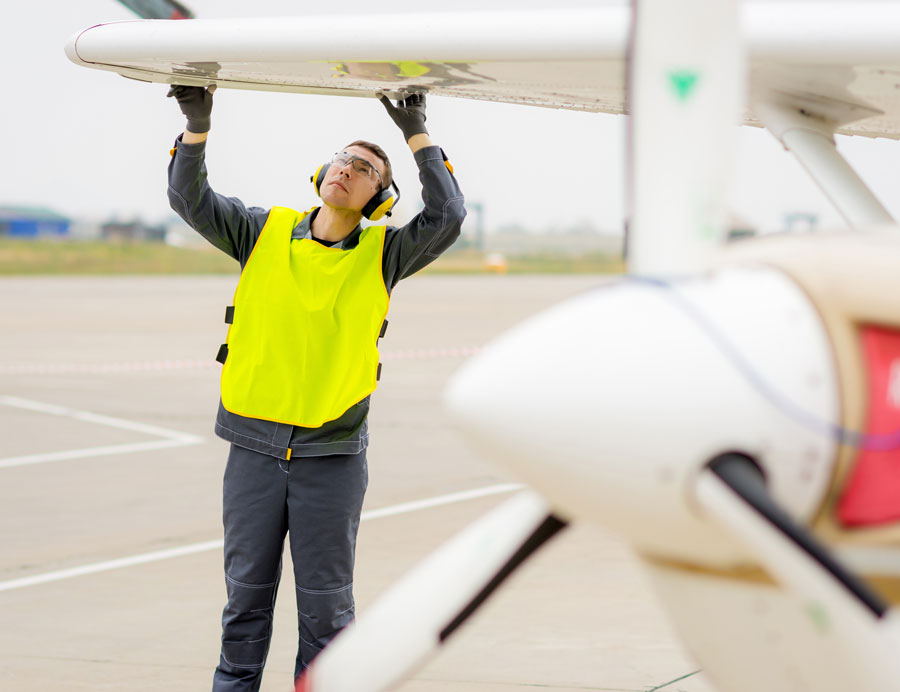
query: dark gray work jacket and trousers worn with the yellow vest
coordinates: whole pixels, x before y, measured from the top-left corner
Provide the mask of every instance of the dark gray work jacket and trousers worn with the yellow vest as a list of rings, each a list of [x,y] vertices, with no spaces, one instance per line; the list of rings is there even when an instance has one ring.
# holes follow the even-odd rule
[[[175,146],[169,164],[169,203],[243,268],[268,210],[248,208],[236,198],[213,192],[207,182],[205,142],[184,144],[179,136]],[[440,147],[425,147],[414,156],[425,206],[406,225],[387,228],[382,273],[388,292],[453,244],[466,213]],[[312,238],[315,213],[297,225],[292,239]],[[331,246],[351,251],[361,230],[357,226]],[[285,534],[297,595],[295,677],[353,619],[353,561],[368,482],[368,410],[366,397],[336,420],[304,428],[240,416],[226,411],[219,401],[215,430],[231,442],[231,450],[223,492],[228,603],[222,615],[214,691],[259,689]]]

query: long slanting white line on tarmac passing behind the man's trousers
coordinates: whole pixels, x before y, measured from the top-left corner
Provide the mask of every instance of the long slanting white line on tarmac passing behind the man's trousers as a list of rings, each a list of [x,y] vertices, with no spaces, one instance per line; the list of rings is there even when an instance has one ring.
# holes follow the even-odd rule
[[[369,521],[371,519],[381,519],[382,517],[391,517],[398,514],[409,514],[431,507],[440,507],[456,502],[465,502],[466,500],[474,500],[480,497],[488,497],[490,495],[500,495],[502,493],[513,492],[523,488],[519,483],[502,483],[500,485],[491,485],[486,488],[476,488],[474,490],[466,490],[458,493],[450,493],[449,495],[439,495],[437,497],[425,500],[416,500],[414,502],[404,502],[398,505],[382,507],[381,509],[372,509],[362,513],[360,521]],[[45,572],[44,574],[35,574],[30,577],[22,577],[21,579],[11,579],[9,581],[0,582],[0,591],[12,591],[13,589],[22,589],[26,586],[35,586],[37,584],[46,584],[48,582],[61,581],[63,579],[71,579],[73,577],[81,577],[86,574],[97,574],[98,572],[108,572],[123,567],[133,567],[134,565],[143,565],[148,562],[159,562],[161,560],[170,560],[184,555],[194,555],[210,550],[217,550],[223,546],[221,538],[214,541],[203,541],[202,543],[191,543],[178,548],[169,548],[167,550],[156,550],[152,553],[143,553],[142,555],[132,555],[131,557],[123,557],[116,560],[107,560],[106,562],[95,562],[91,565],[82,565],[80,567],[71,567],[69,569],[57,570],[56,572]]]

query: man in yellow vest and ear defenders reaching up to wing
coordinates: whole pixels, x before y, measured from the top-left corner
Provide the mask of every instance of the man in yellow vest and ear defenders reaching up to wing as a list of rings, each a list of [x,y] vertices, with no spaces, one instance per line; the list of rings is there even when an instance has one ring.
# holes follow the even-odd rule
[[[242,268],[219,357],[216,434],[231,449],[223,492],[228,603],[213,690],[258,690],[286,533],[299,626],[295,677],[353,619],[376,342],[391,289],[450,247],[465,209],[425,128],[424,94],[397,106],[382,97],[419,166],[424,209],[404,226],[366,229],[363,214],[379,218],[396,190],[380,147],[355,141],[320,167],[320,207],[248,208],[207,182],[212,90],[175,86],[169,96],[187,117],[169,164],[169,201]]]

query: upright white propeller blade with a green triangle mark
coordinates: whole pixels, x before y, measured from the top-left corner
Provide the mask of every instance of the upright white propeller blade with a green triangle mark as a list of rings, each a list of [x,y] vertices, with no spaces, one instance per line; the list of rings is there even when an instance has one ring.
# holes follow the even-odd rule
[[[628,265],[704,271],[727,227],[746,78],[734,0],[636,0],[629,60]]]

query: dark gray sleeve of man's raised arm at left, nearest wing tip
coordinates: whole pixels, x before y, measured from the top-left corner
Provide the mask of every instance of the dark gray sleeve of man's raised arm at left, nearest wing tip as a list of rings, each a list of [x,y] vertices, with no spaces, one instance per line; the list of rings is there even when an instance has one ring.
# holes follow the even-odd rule
[[[222,252],[246,264],[269,212],[244,206],[235,197],[213,192],[206,174],[206,142],[175,140],[169,162],[169,205],[185,222]]]

